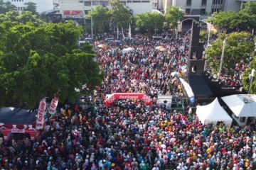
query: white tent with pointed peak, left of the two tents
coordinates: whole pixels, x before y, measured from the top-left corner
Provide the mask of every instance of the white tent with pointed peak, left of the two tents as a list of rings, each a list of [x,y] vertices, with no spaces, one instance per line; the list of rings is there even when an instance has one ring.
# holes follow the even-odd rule
[[[222,121],[225,125],[231,125],[233,120],[224,108],[220,106],[218,98],[215,98],[212,103],[206,106],[197,106],[196,115],[198,115],[199,120],[201,120],[203,124],[212,123],[216,125],[216,123]]]

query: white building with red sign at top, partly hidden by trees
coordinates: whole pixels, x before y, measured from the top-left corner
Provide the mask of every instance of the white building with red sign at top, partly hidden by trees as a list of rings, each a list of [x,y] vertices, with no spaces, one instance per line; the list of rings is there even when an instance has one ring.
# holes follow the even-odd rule
[[[137,13],[151,12],[151,0],[120,0],[124,6],[128,6],[133,15]],[[63,18],[83,18],[88,11],[95,6],[110,8],[109,0],[60,0],[59,8]]]

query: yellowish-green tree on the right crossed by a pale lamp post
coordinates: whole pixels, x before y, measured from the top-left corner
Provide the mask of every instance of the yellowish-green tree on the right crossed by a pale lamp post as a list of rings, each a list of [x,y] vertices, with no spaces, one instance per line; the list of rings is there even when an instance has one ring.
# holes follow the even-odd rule
[[[236,63],[241,60],[244,60],[245,62],[248,61],[248,57],[254,50],[254,44],[249,40],[250,33],[233,32],[226,36],[228,37],[228,40],[225,44],[223,73],[233,74]],[[223,49],[224,38],[224,34],[220,35],[218,39],[206,50],[207,61],[215,73],[218,72],[220,66],[220,57]]]

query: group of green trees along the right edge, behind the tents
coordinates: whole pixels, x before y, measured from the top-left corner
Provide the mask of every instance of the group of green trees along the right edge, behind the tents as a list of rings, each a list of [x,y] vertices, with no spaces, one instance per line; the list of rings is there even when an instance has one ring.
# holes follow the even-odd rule
[[[206,50],[208,64],[214,73],[218,73],[220,57],[223,50],[223,40],[226,39],[223,58],[222,73],[233,75],[235,64],[241,61],[249,64],[249,68],[243,73],[244,89],[248,90],[252,69],[256,68],[255,40],[251,33],[256,28],[256,2],[245,4],[238,13],[232,11],[221,11],[213,13],[208,21],[215,24],[222,33],[217,40],[211,43]],[[252,81],[251,93],[256,94],[256,79]]]

